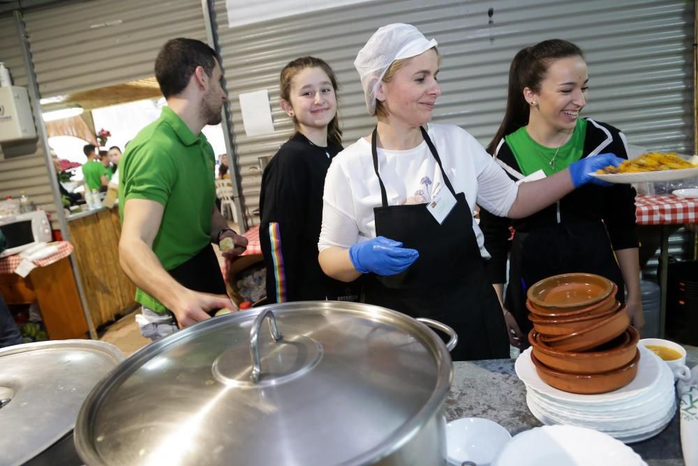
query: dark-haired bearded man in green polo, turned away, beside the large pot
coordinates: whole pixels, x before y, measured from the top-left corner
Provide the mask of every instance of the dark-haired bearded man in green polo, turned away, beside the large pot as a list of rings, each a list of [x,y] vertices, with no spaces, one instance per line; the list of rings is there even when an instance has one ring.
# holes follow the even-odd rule
[[[166,43],[155,75],[168,106],[128,144],[119,163],[121,267],[138,286],[142,333],[156,340],[235,310],[211,242],[243,236],[228,228],[215,205],[214,152],[201,129],[221,122],[225,91],[218,54],[193,39]]]

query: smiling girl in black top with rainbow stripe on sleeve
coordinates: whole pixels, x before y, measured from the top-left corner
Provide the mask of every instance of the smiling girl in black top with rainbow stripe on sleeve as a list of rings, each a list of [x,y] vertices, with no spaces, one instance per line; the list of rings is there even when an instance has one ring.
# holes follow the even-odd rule
[[[296,133],[269,161],[260,193],[260,245],[267,303],[357,300],[352,284],[331,279],[318,263],[325,174],[338,154],[337,80],[322,59],[291,61],[279,79],[281,108]]]

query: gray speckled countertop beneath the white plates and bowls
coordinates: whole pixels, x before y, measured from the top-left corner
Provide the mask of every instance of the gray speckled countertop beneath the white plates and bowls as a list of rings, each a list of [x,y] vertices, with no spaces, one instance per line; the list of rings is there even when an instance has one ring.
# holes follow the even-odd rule
[[[698,348],[686,347],[687,365],[698,363]],[[542,425],[526,407],[526,387],[514,372],[513,359],[459,361],[446,399],[447,421],[481,417],[500,423],[511,435]],[[651,466],[683,466],[678,411],[660,435],[630,445]]]

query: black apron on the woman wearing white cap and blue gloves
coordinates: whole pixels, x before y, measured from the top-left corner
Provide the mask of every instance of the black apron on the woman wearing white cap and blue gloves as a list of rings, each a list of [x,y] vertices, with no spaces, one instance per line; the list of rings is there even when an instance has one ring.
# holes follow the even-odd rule
[[[451,351],[454,361],[509,358],[502,308],[485,273],[466,196],[455,193],[436,147],[423,128],[422,136],[457,203],[441,225],[426,210],[426,204],[388,205],[378,173],[374,129],[371,152],[383,202],[382,207],[373,209],[376,235],[417,249],[419,259],[398,275],[367,274],[362,298],[365,303],[413,317],[428,317],[452,327],[458,333],[458,344]]]

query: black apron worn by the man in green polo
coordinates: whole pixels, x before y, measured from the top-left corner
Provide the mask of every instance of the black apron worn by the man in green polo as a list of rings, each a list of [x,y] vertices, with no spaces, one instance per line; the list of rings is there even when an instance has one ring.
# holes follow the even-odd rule
[[[218,264],[218,258],[214,247],[209,243],[195,254],[188,261],[177,265],[177,267],[168,270],[170,277],[177,280],[185,288],[200,293],[228,295],[221,273],[221,265]],[[217,309],[211,310],[210,314],[215,314]],[[170,312],[175,321],[177,318],[174,313]]]

